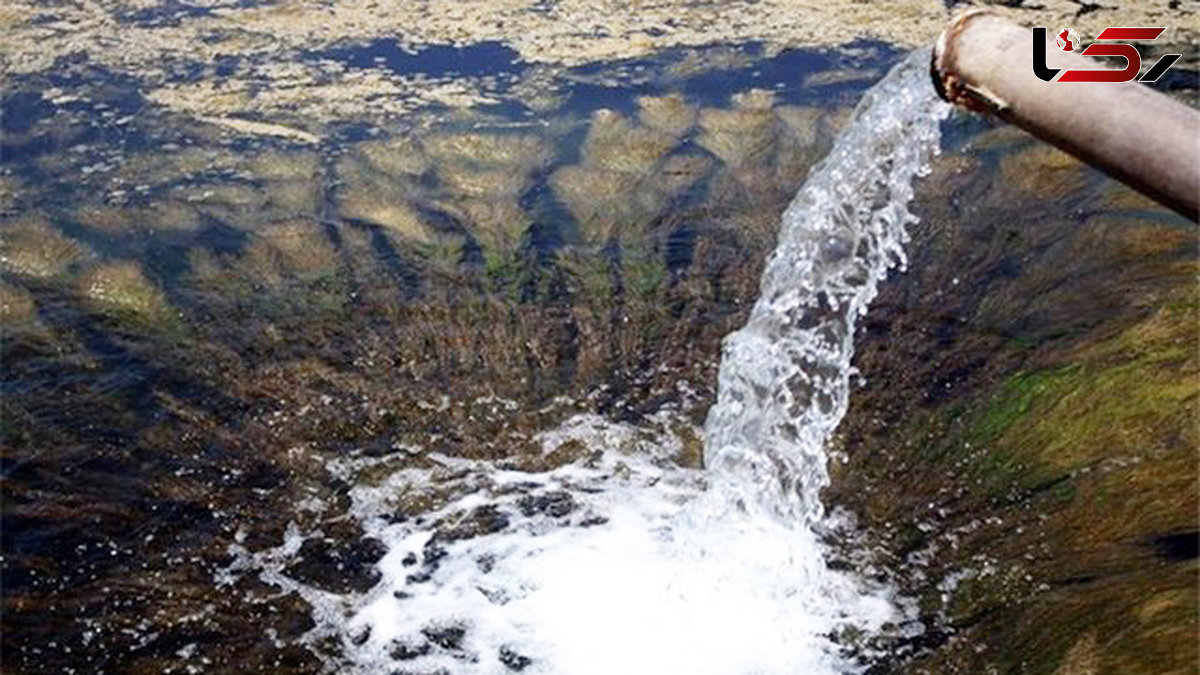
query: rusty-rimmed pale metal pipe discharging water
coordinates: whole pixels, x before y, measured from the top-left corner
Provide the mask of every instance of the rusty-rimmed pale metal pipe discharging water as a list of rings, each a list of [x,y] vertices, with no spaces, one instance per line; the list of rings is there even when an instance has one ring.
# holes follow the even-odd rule
[[[934,48],[934,85],[947,101],[991,112],[1200,220],[1200,112],[1132,82],[1044,82],[1033,35],[986,10],[959,14]],[[1039,67],[1104,67],[1046,42]]]

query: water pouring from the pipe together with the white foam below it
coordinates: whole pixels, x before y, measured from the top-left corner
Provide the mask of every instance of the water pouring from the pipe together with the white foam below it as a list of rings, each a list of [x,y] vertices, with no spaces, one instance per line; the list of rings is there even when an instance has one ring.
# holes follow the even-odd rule
[[[552,471],[442,455],[352,491],[388,546],[382,581],[347,601],[282,571],[304,537],[251,554],[316,608],[310,640],[341,644],[331,670],[364,673],[839,673],[862,668],[830,638],[904,617],[883,585],[826,565],[815,532],[824,444],[846,411],[856,322],[905,263],[912,181],[947,107],[914,53],[868,91],[782,219],[746,325],[725,342],[706,471],[677,441],[580,416],[545,452],[589,452]],[[672,424],[660,413],[661,428]],[[331,466],[350,476],[355,460]],[[438,484],[426,515],[389,501]]]

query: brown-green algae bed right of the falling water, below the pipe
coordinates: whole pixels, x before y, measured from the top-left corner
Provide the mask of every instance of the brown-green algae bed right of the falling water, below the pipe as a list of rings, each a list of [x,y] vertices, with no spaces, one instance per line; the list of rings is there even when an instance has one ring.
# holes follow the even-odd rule
[[[1003,127],[918,195],[827,492],[934,627],[884,670],[1193,671],[1194,228]]]

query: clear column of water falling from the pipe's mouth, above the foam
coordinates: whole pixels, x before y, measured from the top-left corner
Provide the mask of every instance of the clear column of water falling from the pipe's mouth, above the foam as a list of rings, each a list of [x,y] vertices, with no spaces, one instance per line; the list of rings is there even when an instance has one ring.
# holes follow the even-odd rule
[[[949,106],[925,52],[872,86],[784,214],[746,325],[725,340],[706,464],[724,489],[785,520],[817,522],[824,444],[846,413],[854,325],[906,263],[912,181]]]

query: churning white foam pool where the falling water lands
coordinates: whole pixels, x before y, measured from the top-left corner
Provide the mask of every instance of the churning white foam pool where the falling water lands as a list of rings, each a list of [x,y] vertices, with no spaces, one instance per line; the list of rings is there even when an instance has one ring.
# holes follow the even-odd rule
[[[509,524],[444,544],[428,580],[412,579],[427,569],[412,561],[433,533],[364,513],[390,551],[384,580],[348,625],[352,643],[365,635],[350,647],[362,670],[500,673],[504,652],[510,663],[532,659],[528,673],[834,673],[850,664],[823,633],[895,619],[887,590],[832,581],[811,555],[810,531],[742,510],[716,514],[706,473],[672,465],[673,437],[580,416],[541,442],[550,452],[565,438],[599,454],[545,473],[438,458],[466,471],[460,480],[486,486],[430,521],[488,506]],[[386,512],[379,490],[356,490],[359,508]],[[575,503],[570,514],[522,513],[522,498],[563,492]],[[708,525],[692,525],[701,520]],[[456,649],[430,639],[446,628],[463,631]]]

